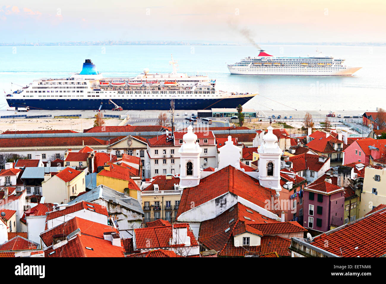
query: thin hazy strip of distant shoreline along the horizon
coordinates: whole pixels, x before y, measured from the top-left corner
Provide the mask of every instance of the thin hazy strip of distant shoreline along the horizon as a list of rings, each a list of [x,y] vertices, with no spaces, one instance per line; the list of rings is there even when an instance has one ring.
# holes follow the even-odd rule
[[[253,46],[242,43],[190,43],[190,42],[62,42],[62,43],[0,43],[0,46]],[[260,45],[309,45],[309,46],[386,46],[386,43],[260,43]]]

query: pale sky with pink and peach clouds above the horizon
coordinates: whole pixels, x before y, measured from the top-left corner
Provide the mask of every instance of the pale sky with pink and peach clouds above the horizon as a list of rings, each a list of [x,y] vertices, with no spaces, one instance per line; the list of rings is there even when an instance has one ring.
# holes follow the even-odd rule
[[[384,0],[1,0],[0,42],[385,42]]]

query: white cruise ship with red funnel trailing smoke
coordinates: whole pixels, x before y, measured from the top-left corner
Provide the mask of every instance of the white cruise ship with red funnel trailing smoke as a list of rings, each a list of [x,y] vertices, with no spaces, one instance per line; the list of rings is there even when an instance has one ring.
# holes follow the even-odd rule
[[[323,56],[275,57],[260,50],[258,56],[248,56],[240,62],[228,65],[231,74],[239,75],[352,75],[362,67],[343,65],[344,59]]]

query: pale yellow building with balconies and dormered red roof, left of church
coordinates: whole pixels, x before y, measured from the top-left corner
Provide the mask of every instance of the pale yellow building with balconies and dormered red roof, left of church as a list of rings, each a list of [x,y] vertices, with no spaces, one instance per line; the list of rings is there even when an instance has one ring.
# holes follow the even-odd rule
[[[174,222],[182,195],[178,185],[179,177],[173,175],[157,175],[150,182],[142,183],[144,223],[157,219]]]

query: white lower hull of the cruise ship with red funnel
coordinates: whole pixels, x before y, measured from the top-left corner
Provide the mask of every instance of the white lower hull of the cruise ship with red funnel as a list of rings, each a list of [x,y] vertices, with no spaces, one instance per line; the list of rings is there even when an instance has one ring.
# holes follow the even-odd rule
[[[362,67],[349,67],[342,70],[328,70],[326,68],[320,68],[315,70],[312,67],[298,67],[291,70],[273,70],[276,68],[235,68],[235,66],[228,66],[231,74],[237,75],[292,75],[292,76],[350,76]]]

